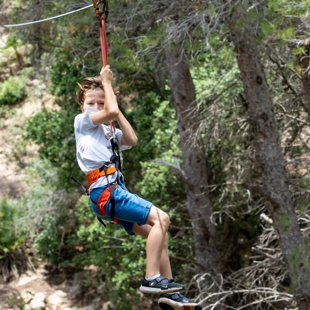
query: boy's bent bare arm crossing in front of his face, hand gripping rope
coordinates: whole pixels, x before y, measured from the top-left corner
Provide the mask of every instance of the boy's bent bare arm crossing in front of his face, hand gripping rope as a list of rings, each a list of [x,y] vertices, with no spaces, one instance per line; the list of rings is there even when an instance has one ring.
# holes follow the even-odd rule
[[[119,113],[117,99],[111,85],[111,82],[113,81],[113,72],[110,70],[109,65],[101,69],[100,78],[104,90],[104,108],[99,112],[91,113],[89,115],[94,125],[108,122],[109,120],[116,118]]]

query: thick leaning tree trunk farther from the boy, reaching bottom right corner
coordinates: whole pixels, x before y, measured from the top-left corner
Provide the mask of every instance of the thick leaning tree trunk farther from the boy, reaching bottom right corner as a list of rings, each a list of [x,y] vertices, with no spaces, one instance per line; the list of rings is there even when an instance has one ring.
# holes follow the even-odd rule
[[[299,230],[287,184],[281,141],[272,110],[272,99],[256,46],[255,34],[251,27],[246,26],[246,16],[242,16],[241,8],[236,8],[234,13],[227,18],[254,131],[265,206],[273,219],[274,228],[280,239],[299,310],[310,309],[310,250]],[[244,23],[243,29],[237,25],[240,19]]]

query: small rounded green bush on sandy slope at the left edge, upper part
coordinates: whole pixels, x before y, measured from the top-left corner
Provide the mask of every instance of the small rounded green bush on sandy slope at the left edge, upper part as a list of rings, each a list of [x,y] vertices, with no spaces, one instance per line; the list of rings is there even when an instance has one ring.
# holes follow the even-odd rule
[[[0,105],[14,104],[26,94],[26,81],[21,77],[10,77],[0,83]]]

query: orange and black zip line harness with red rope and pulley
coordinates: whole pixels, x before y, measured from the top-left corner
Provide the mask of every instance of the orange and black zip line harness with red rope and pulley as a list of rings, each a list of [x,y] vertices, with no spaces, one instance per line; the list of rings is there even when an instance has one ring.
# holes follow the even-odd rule
[[[103,3],[102,11],[100,11],[98,7],[100,3]],[[106,38],[106,33],[105,33],[105,21],[108,19],[108,14],[109,14],[108,0],[94,0],[93,6],[95,9],[95,14],[99,18],[102,62],[103,62],[103,66],[105,67],[108,63],[108,44],[107,44],[107,38]],[[79,180],[75,179],[72,175],[71,175],[71,179],[73,179],[74,182],[76,182],[78,185],[82,187],[83,191],[85,192],[87,196],[90,196],[90,194],[88,193],[88,190],[91,184],[94,184],[95,182],[97,182],[97,180],[102,176],[105,176],[107,178],[108,187],[100,195],[100,197],[98,198],[98,201],[96,202],[92,200],[91,197],[90,199],[95,205],[97,205],[98,211],[102,215],[107,215],[105,213],[105,205],[107,204],[108,201],[111,202],[110,224],[114,224],[114,222],[118,223],[120,221],[119,219],[114,219],[114,215],[115,215],[114,191],[115,191],[115,188],[117,188],[118,186],[117,185],[118,179],[119,179],[118,173],[119,171],[122,172],[122,153],[117,144],[114,120],[110,121],[110,131],[112,133],[111,146],[112,146],[112,152],[113,152],[113,155],[111,156],[110,160],[108,162],[105,162],[103,166],[101,166],[99,169],[95,169],[86,175],[86,179],[88,181],[88,185],[86,188],[82,185],[82,183]],[[115,164],[115,167],[111,167],[112,163]],[[117,171],[117,177],[112,183],[110,183],[108,179],[108,175],[111,175],[116,171]],[[104,227],[106,227],[106,225],[104,224],[103,220],[100,219],[100,217],[97,216],[97,219],[99,220],[101,224],[104,225]]]

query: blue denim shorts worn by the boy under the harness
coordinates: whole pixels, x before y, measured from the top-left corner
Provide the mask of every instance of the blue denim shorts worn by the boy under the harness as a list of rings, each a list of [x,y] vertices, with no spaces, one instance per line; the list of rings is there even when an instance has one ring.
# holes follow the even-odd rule
[[[102,192],[108,187],[108,185],[94,188],[91,193],[91,199],[97,201]],[[121,221],[117,225],[122,226],[129,235],[134,235],[132,228],[135,223],[138,225],[144,225],[148,218],[152,202],[146,201],[135,194],[131,194],[127,191],[126,187],[119,181],[118,186],[114,191],[115,197],[115,219]],[[97,206],[91,201],[91,207],[95,212],[95,215],[100,219],[110,220],[111,202],[108,201],[105,205],[105,213],[107,216],[99,213]]]

